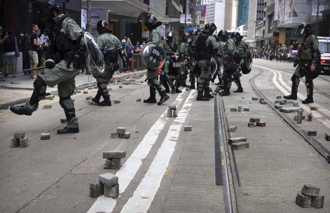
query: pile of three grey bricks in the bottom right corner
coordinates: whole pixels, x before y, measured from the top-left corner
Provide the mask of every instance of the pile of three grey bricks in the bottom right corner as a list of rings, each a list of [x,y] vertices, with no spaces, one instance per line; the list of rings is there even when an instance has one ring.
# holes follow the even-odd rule
[[[306,184],[301,191],[297,192],[296,204],[302,208],[314,207],[316,209],[323,208],[324,196],[320,196],[320,188],[316,185]]]

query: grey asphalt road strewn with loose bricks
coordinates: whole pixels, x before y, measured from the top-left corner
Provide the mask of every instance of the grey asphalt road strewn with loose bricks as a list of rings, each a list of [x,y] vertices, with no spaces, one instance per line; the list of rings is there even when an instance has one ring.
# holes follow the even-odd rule
[[[243,136],[249,149],[234,151],[237,210],[241,213],[324,213],[330,212],[330,164],[269,106],[252,101],[256,94],[249,80],[255,82],[270,100],[288,94],[292,63],[255,60],[250,74],[241,77],[244,92],[222,97],[222,115],[228,125],[237,125],[229,137]],[[313,121],[299,127],[317,129],[315,137],[330,149],[324,133],[330,133],[330,76],[314,81]],[[17,116],[0,110],[0,212],[1,213],[223,213],[223,186],[216,185],[214,101],[196,101],[197,91],[169,94],[163,105],[137,102],[147,98],[149,88],[144,79],[130,85],[111,86],[110,99],[121,100],[111,107],[88,105],[86,97],[96,89],[77,93],[76,114],[80,133],[57,135],[64,124],[64,112],[57,96],[43,100],[32,116]],[[123,88],[119,88],[123,86]],[[214,84],[211,85],[215,89]],[[289,87],[289,89],[288,89]],[[300,96],[301,95],[301,96]],[[299,86],[299,98],[306,96]],[[157,97],[159,99],[159,97]],[[300,102],[299,100],[297,102]],[[176,104],[177,118],[167,118],[167,107]],[[52,105],[52,109],[43,109]],[[288,103],[290,105],[290,103]],[[293,104],[291,104],[293,105]],[[250,111],[231,112],[237,106]],[[300,107],[302,104],[300,103]],[[310,112],[303,106],[304,113]],[[293,119],[297,113],[287,116]],[[247,126],[250,118],[260,118],[265,127]],[[191,125],[192,131],[183,131]],[[117,127],[131,132],[129,139],[111,139]],[[25,132],[28,148],[10,148],[10,138]],[[40,140],[41,133],[50,140]],[[102,152],[126,150],[120,170],[103,168]],[[120,196],[116,199],[89,197],[89,183],[100,174],[110,172],[119,177]],[[325,195],[323,209],[303,209],[295,204],[297,191],[304,184],[315,184]]]

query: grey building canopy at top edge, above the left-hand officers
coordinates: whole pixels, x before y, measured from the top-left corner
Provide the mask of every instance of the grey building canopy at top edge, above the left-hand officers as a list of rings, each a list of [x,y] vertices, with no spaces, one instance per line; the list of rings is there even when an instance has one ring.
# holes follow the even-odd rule
[[[87,0],[81,0],[81,7],[87,8]],[[106,9],[110,13],[126,16],[149,12],[149,6],[140,0],[91,0],[91,9]]]

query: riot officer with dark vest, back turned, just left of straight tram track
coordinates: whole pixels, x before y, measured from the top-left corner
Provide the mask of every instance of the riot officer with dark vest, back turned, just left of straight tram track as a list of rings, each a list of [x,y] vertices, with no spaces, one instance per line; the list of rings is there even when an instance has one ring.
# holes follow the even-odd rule
[[[218,51],[218,43],[212,36],[216,28],[214,23],[207,23],[204,30],[198,34],[192,43],[194,58],[196,60],[194,70],[200,70],[196,100],[207,101],[210,98],[214,98],[214,96],[210,94],[209,76],[211,75],[211,55]]]

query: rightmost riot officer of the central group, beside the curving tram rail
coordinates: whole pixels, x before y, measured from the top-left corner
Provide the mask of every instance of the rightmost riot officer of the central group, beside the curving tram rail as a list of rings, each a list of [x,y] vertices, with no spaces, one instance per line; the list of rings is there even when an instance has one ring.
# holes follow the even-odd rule
[[[234,92],[243,92],[242,84],[241,84],[239,77],[241,76],[240,71],[242,71],[242,68],[246,68],[245,55],[246,55],[246,51],[249,50],[249,46],[244,41],[242,41],[242,38],[243,38],[243,36],[241,36],[239,34],[239,32],[237,32],[237,31],[231,32],[231,39],[235,42],[236,49],[238,52],[238,57],[239,57],[238,63],[237,63],[237,69],[232,74],[234,82],[237,86],[237,90],[235,90]]]

